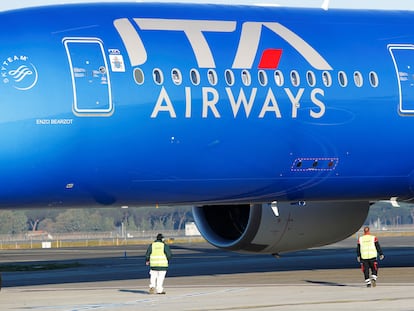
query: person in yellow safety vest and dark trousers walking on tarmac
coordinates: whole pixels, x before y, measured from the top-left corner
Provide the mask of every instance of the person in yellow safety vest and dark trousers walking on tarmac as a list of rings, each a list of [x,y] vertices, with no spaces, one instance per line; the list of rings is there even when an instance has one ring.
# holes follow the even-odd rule
[[[367,287],[377,285],[378,278],[378,262],[377,256],[380,255],[380,260],[384,259],[381,246],[375,235],[371,235],[369,227],[364,228],[364,235],[359,237],[357,246],[357,260],[361,263],[361,269],[364,273],[365,284]],[[371,269],[371,278],[369,270]]]

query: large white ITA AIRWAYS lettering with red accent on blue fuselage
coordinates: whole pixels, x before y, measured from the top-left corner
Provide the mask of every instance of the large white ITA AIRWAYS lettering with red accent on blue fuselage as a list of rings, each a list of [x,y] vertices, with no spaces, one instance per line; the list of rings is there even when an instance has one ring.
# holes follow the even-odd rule
[[[161,31],[163,33],[174,31],[182,32],[188,43],[190,43],[198,68],[215,69],[217,68],[217,62],[214,47],[207,40],[206,34],[211,32],[228,34],[235,32],[237,28],[235,21],[147,18],[134,18],[133,21],[135,25],[126,18],[114,21],[115,28],[123,40],[132,67],[141,66],[148,59],[148,50],[140,35],[141,31]],[[136,26],[139,27],[139,31]],[[238,45],[235,47],[235,57],[230,66],[231,70],[252,70],[255,60],[258,58],[263,28],[272,31],[276,36],[288,42],[315,70],[332,70],[329,63],[305,40],[276,22],[242,23]],[[275,70],[278,66],[279,59],[269,60],[267,58],[280,57],[280,54],[276,53],[275,55],[275,53],[268,53],[269,51],[272,52],[272,49],[265,49],[260,55],[260,70]],[[180,53],[180,49],[175,52]],[[312,118],[321,118],[326,111],[323,102],[325,91],[321,88],[307,90],[297,87],[294,89],[273,88],[267,85],[258,88],[251,85],[250,87],[237,89],[232,85],[225,88],[218,88],[216,85],[200,85],[200,87],[184,86],[177,91],[177,88],[170,90],[168,86],[162,85],[162,83],[159,84],[160,89],[157,98],[154,100],[151,118],[157,118],[160,115],[168,115],[171,118],[180,116],[185,118],[196,117],[193,112],[194,98],[201,99],[201,107],[197,107],[201,112],[197,116],[202,118],[221,118],[223,107],[220,106],[223,105],[223,102],[230,105],[234,118],[242,114],[247,118],[264,118],[267,115],[273,115],[275,118],[297,118],[300,117],[298,110],[301,108],[301,101],[308,103],[309,107],[306,114]],[[180,92],[179,96],[177,96],[177,92]],[[174,97],[181,98],[180,104],[174,102]],[[184,109],[178,107],[182,105],[183,98],[185,98]],[[241,106],[243,106],[244,113],[241,112]],[[282,113],[286,109],[289,109],[290,112],[288,114]],[[178,110],[182,110],[182,112],[178,112]]]

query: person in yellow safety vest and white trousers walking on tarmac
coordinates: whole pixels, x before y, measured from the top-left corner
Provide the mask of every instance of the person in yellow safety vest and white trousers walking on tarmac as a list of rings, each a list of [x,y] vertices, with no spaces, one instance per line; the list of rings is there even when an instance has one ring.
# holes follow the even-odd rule
[[[164,243],[164,236],[158,233],[145,255],[145,264],[150,266],[150,294],[165,294],[163,284],[171,257],[170,247]]]

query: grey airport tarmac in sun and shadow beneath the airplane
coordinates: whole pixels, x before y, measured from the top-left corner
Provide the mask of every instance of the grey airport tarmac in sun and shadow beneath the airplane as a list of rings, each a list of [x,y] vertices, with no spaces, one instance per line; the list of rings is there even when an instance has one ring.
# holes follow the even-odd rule
[[[166,295],[148,294],[145,247],[1,251],[2,265],[46,271],[4,272],[3,310],[414,310],[412,237],[381,238],[386,258],[378,285],[366,288],[355,240],[285,254],[236,254],[207,244],[172,245]],[[30,259],[32,258],[32,259]]]

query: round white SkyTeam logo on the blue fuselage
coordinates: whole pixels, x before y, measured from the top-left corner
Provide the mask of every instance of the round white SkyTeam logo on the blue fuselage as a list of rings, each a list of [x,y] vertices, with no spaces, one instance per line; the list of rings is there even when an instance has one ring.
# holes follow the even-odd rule
[[[26,91],[33,88],[38,79],[36,67],[27,56],[10,56],[1,65],[3,83],[17,90]]]

